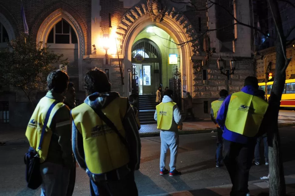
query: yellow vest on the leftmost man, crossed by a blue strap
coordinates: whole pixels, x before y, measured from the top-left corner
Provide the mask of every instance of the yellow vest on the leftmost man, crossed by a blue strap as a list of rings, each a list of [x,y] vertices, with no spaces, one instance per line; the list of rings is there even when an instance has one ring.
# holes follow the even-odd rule
[[[51,106],[51,104],[55,101],[56,101],[55,99],[51,99],[46,96],[43,97],[37,104],[33,112],[33,115],[28,123],[27,129],[26,129],[26,137],[29,140],[30,146],[33,147],[35,150],[37,150],[37,148],[39,147],[41,131],[42,131],[42,127],[43,127],[43,123],[44,123],[47,111],[49,107]],[[44,133],[44,136],[43,136],[41,150],[39,150],[41,163],[44,162],[47,158],[48,148],[49,148],[51,135],[52,135],[52,130],[50,129],[52,119],[55,113],[57,112],[57,110],[63,106],[65,106],[63,103],[57,103],[50,113],[48,123],[46,125],[47,126],[46,132]]]

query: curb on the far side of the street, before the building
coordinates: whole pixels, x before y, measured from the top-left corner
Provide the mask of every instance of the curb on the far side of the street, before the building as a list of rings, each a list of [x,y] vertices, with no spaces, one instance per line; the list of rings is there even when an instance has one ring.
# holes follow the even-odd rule
[[[295,123],[279,123],[278,128],[281,127],[295,127]],[[179,135],[187,135],[187,134],[196,134],[196,133],[210,133],[215,131],[216,128],[209,128],[209,129],[192,129],[192,130],[184,130],[179,131]],[[150,132],[150,133],[139,133],[140,137],[158,137],[160,136],[160,131],[158,132]]]

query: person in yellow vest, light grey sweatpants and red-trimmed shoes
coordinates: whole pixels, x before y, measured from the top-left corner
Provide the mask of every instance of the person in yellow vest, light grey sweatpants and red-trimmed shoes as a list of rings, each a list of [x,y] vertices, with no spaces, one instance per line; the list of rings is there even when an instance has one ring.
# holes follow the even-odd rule
[[[172,177],[181,174],[176,170],[176,158],[179,145],[178,125],[182,125],[182,117],[179,108],[172,100],[173,91],[165,90],[163,94],[163,102],[156,106],[154,114],[157,129],[161,130],[160,175],[169,173]],[[165,168],[168,148],[170,149],[170,172]]]

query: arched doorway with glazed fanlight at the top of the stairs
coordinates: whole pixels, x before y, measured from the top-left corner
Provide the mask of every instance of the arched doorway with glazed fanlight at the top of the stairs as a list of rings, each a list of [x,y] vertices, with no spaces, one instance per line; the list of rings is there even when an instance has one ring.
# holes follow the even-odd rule
[[[161,51],[150,39],[140,39],[135,42],[131,50],[134,71],[138,77],[138,93],[140,95],[155,94],[157,87],[161,84]],[[140,56],[142,60],[138,60]],[[134,74],[134,73],[133,73]],[[132,80],[132,86],[137,83]]]

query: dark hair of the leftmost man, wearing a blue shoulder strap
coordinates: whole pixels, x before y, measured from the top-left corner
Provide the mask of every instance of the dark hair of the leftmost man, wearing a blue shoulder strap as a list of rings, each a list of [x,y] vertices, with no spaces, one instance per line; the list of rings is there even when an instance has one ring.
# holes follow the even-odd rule
[[[63,93],[68,88],[69,76],[62,70],[54,70],[47,76],[47,90]]]

